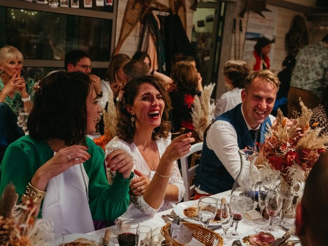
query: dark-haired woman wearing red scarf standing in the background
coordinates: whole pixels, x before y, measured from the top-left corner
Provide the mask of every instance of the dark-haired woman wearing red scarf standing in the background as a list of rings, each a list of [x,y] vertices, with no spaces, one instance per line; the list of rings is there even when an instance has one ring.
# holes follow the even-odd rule
[[[266,37],[260,37],[257,40],[254,46],[253,55],[247,62],[253,71],[270,69],[270,59],[268,54],[271,50],[271,44],[271,40]]]

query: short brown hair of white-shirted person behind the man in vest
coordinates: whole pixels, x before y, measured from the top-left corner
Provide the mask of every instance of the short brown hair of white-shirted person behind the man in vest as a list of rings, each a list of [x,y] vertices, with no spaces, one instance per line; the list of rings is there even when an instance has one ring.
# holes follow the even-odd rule
[[[234,88],[244,88],[244,81],[251,69],[242,60],[228,60],[223,67],[223,75],[227,76]]]

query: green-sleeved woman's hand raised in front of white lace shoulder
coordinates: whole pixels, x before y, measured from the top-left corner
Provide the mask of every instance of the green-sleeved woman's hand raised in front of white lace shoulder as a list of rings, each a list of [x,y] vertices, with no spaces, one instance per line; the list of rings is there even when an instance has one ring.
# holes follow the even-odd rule
[[[130,177],[133,168],[133,160],[131,155],[124,150],[114,150],[106,156],[107,167],[112,171],[117,171],[124,178]]]

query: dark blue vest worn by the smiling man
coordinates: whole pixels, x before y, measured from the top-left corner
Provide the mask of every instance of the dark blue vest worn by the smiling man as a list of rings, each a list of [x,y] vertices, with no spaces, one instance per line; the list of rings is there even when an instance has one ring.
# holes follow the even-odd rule
[[[245,147],[253,148],[255,146],[251,133],[247,128],[244,117],[242,116],[241,104],[237,105],[232,110],[221,114],[215,119],[215,121],[216,120],[228,121],[235,128],[239,149],[244,149]],[[268,131],[267,123],[271,126],[269,116],[265,118],[260,126],[260,142],[264,141],[264,134]],[[236,155],[238,155],[238,153],[236,153]],[[200,163],[195,180],[196,187],[204,192],[217,194],[231,190],[234,181],[235,180],[223,166],[214,151],[208,148],[206,144],[206,136],[204,136]]]

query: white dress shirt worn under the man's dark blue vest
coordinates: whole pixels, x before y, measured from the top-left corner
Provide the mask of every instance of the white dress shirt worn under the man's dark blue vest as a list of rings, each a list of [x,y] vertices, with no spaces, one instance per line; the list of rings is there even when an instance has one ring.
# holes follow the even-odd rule
[[[245,119],[242,106],[241,113]],[[275,120],[273,115],[269,115],[271,124]],[[249,130],[252,128],[249,126],[245,119],[246,125]],[[254,130],[259,129],[261,125],[258,125]],[[213,150],[219,160],[222,162],[224,168],[230,173],[230,175],[236,179],[240,171],[240,157],[238,155],[239,147],[237,141],[237,132],[235,128],[225,120],[217,120],[213,122],[206,135],[206,144],[210,150]],[[256,169],[256,167],[254,167]],[[207,194],[204,191],[196,188],[199,194]]]

